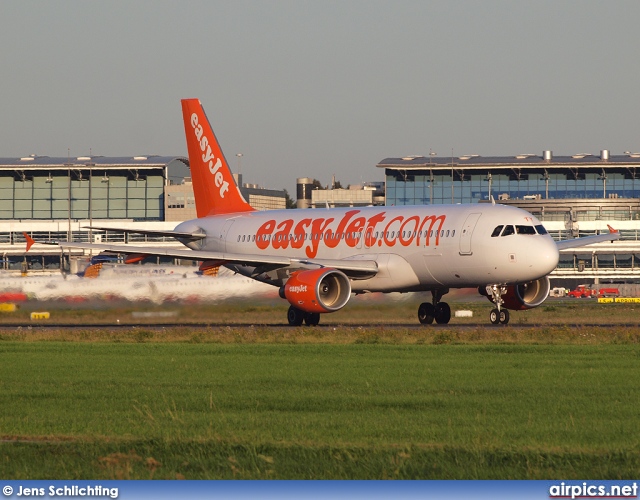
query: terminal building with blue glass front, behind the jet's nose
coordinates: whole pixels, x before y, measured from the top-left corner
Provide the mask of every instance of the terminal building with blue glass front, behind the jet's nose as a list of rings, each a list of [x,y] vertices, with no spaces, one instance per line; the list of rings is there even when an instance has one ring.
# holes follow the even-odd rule
[[[387,205],[496,203],[538,217],[556,239],[607,232],[621,241],[561,252],[554,284],[640,279],[640,153],[386,158]]]

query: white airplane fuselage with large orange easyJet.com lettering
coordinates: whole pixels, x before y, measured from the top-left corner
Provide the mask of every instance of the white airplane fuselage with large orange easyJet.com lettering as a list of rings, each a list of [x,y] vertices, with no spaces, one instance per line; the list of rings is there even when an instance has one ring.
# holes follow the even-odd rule
[[[498,226],[512,230],[501,236]],[[185,242],[194,250],[375,261],[377,275],[354,280],[354,292],[525,283],[549,274],[559,258],[538,219],[503,205],[273,210],[210,216],[176,227],[196,230],[207,236]],[[250,266],[235,269],[254,272]]]

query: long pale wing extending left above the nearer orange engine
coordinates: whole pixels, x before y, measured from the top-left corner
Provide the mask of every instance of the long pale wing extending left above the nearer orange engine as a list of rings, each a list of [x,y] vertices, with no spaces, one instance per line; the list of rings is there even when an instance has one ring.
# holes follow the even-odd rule
[[[374,260],[357,260],[357,259],[298,259],[293,257],[280,257],[273,255],[257,255],[257,254],[234,254],[227,252],[211,252],[207,250],[189,250],[178,248],[162,248],[149,246],[134,245],[110,245],[107,243],[68,243],[60,242],[37,242],[50,245],[58,245],[65,249],[83,249],[97,250],[100,252],[114,254],[139,254],[139,255],[159,255],[164,257],[175,257],[178,259],[189,260],[214,260],[222,263],[234,263],[247,266],[274,266],[294,267],[294,268],[313,268],[313,267],[330,267],[344,272],[352,278],[369,278],[375,276],[378,272],[378,264]]]

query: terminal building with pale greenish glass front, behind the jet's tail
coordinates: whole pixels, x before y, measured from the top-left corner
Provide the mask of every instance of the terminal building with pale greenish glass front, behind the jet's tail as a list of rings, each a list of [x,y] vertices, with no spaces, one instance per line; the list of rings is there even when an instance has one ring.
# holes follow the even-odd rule
[[[85,252],[38,245],[25,254],[25,231],[36,240],[182,247],[173,238],[90,226],[172,230],[196,216],[189,175],[189,160],[180,156],[0,158],[0,269],[76,272],[73,263]],[[236,180],[254,208],[286,206],[284,191]]]

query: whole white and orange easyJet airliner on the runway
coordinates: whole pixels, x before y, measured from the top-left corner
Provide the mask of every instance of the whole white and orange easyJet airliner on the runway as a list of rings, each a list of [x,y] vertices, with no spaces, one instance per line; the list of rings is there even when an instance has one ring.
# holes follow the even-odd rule
[[[174,231],[188,249],[57,242],[63,249],[165,255],[223,265],[279,288],[290,325],[316,325],[351,294],[430,291],[418,308],[421,323],[446,324],[442,301],[451,288],[478,288],[495,308],[529,309],[549,294],[548,274],[559,248],[616,240],[609,234],[555,243],[532,214],[496,204],[386,206],[255,211],[235,185],[198,99],[182,101],[197,219]],[[135,260],[132,259],[132,260]]]

